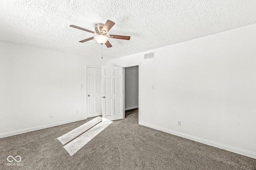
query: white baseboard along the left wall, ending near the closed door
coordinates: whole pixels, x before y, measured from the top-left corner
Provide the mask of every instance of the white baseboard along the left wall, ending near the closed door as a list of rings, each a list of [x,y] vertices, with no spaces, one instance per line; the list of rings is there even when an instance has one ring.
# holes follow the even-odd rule
[[[51,124],[48,124],[48,125],[42,125],[42,126],[38,126],[38,127],[31,127],[31,128],[21,129],[21,130],[15,130],[15,131],[12,131],[12,132],[1,133],[0,138],[5,138],[5,137],[8,137],[8,136],[13,136],[13,135],[16,135],[16,134],[22,134],[22,133],[26,133],[26,132],[32,132],[32,131],[35,131],[35,130],[40,130],[40,129],[49,128],[49,127],[55,127],[55,126],[58,126],[58,125],[64,125],[64,124],[72,123],[72,122],[76,122],[76,121],[82,121],[82,120],[85,120],[85,119],[87,119],[87,118],[83,117],[83,118],[79,118],[79,119],[72,119],[72,120],[69,120],[69,121],[62,121],[62,122],[51,123]]]

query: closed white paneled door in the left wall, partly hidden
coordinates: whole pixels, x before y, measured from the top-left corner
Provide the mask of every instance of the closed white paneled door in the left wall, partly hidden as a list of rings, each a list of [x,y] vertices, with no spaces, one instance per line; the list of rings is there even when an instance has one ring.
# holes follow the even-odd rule
[[[88,118],[102,115],[101,69],[87,67],[87,114]],[[89,96],[88,96],[89,95]]]

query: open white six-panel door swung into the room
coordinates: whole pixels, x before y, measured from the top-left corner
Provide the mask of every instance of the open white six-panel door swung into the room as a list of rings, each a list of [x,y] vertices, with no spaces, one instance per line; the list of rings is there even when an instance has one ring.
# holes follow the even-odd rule
[[[102,66],[102,121],[124,119],[123,68]]]

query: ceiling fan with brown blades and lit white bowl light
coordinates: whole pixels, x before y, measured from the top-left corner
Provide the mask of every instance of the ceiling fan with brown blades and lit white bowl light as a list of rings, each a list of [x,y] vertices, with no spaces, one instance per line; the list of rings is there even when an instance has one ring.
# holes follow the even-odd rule
[[[86,31],[86,32],[90,32],[92,34],[97,34],[97,36],[87,38],[85,40],[81,40],[80,42],[87,42],[87,41],[90,41],[92,39],[95,39],[98,43],[105,44],[109,48],[109,47],[112,47],[112,45],[108,41],[109,38],[116,38],[116,39],[121,39],[121,40],[130,40],[130,36],[119,36],[119,35],[112,35],[112,34],[106,35],[108,33],[108,31],[114,25],[115,25],[115,23],[113,21],[110,21],[110,20],[107,20],[106,24],[100,24],[100,23],[96,24],[95,25],[95,32],[90,31],[90,30],[86,30],[84,28],[74,26],[74,25],[70,25],[70,27],[77,28],[79,30],[83,30],[83,31]]]

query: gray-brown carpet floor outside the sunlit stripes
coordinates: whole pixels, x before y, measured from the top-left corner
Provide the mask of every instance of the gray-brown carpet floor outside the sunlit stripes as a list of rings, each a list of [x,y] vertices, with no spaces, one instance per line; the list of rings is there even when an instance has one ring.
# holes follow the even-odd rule
[[[138,125],[137,109],[70,156],[57,138],[92,119],[1,138],[0,169],[256,170],[256,159]],[[5,166],[10,155],[23,166]]]

